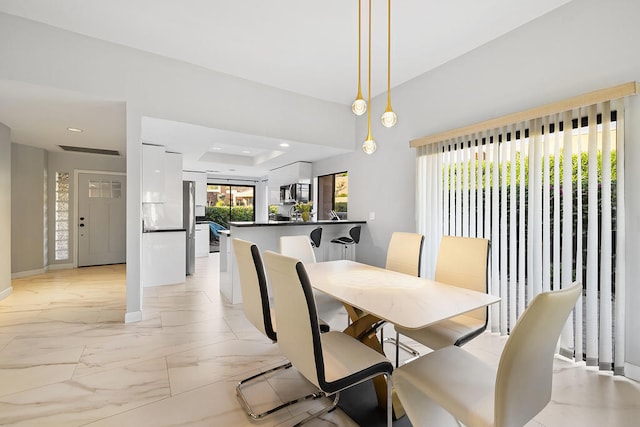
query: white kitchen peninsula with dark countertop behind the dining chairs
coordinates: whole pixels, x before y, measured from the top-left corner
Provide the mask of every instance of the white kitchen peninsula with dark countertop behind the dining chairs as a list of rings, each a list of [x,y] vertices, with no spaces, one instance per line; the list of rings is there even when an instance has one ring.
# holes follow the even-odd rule
[[[318,261],[329,261],[342,257],[342,245],[331,243],[331,240],[348,236],[349,230],[355,225],[366,225],[366,221],[270,221],[258,222],[230,222],[228,234],[220,237],[220,293],[232,304],[242,302],[238,272],[233,257],[232,239],[248,240],[258,245],[261,252],[280,251],[280,237],[293,235],[308,236],[311,231],[322,227],[322,240],[319,248],[314,248]],[[347,257],[355,259],[355,249],[347,252]]]

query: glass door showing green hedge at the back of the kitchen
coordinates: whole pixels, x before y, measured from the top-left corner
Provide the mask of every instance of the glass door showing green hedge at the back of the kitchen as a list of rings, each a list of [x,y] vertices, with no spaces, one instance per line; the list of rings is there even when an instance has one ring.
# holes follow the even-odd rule
[[[229,221],[255,221],[254,200],[254,186],[208,184],[205,215],[225,228]]]

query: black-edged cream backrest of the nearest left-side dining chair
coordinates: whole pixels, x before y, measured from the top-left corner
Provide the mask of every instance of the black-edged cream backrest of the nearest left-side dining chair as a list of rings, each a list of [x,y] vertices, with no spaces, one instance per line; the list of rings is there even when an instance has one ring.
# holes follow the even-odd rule
[[[264,261],[275,299],[278,347],[318,388],[325,384],[320,326],[313,290],[300,260],[266,251]]]

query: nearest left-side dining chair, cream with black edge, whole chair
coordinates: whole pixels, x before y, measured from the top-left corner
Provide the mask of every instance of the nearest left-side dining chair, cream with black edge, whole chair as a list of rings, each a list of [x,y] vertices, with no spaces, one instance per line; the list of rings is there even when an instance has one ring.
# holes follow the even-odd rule
[[[340,392],[374,377],[387,379],[387,426],[392,422],[393,365],[384,355],[338,331],[320,333],[311,283],[296,258],[266,251],[265,265],[275,297],[278,347],[293,366],[333,403],[302,424],[338,404]]]

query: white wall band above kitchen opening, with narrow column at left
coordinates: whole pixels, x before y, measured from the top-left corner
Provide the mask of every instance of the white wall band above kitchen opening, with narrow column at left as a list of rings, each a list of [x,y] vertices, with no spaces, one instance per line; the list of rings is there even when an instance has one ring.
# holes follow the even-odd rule
[[[142,116],[343,147],[348,106],[0,14],[0,79],[127,103],[127,319],[140,317]],[[133,123],[136,121],[137,123]],[[326,123],[332,123],[326,126]]]

